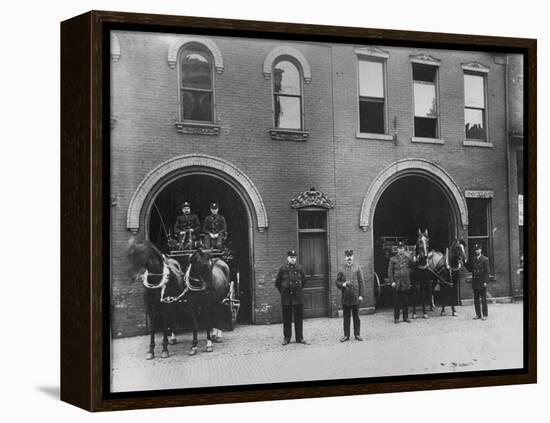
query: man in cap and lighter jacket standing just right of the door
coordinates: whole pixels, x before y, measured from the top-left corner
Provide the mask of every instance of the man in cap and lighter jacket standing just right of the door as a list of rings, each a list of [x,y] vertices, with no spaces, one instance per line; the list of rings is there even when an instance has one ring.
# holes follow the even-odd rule
[[[344,311],[344,336],[340,342],[349,341],[350,317],[353,314],[353,335],[358,341],[361,338],[361,320],[359,304],[363,301],[363,272],[353,263],[353,250],[346,250],[346,261],[336,276],[336,286],[342,291],[342,309]]]

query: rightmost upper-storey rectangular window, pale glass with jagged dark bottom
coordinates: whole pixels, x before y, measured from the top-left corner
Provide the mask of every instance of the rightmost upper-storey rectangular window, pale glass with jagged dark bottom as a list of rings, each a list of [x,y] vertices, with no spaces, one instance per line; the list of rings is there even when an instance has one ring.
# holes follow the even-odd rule
[[[485,75],[464,73],[464,129],[466,139],[486,141]]]

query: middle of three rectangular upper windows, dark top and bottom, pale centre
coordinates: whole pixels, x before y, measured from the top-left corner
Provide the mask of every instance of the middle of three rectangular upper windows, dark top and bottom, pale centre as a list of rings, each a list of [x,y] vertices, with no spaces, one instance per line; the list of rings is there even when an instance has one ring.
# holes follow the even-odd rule
[[[439,138],[438,67],[413,63],[414,136]]]

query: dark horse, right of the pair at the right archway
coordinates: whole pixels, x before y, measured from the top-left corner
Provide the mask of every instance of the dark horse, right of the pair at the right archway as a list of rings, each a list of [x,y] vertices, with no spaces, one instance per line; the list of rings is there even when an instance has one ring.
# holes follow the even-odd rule
[[[455,304],[458,302],[458,281],[466,263],[466,243],[462,239],[453,239],[451,245],[442,254],[431,251],[428,254],[428,267],[434,276],[434,290],[440,291],[441,316],[445,315],[445,306],[451,306],[453,316],[457,316]]]

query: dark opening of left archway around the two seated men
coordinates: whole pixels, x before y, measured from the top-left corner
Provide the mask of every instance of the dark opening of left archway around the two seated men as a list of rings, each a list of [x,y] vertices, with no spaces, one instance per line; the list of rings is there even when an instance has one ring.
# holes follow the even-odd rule
[[[207,172],[191,172],[171,179],[151,198],[146,216],[146,236],[161,249],[167,245],[167,232],[172,231],[183,201],[191,203],[191,212],[201,222],[210,213],[210,202],[220,204],[219,213],[227,222],[227,245],[235,252],[232,272],[239,273],[241,307],[238,321],[252,322],[252,284],[250,272],[250,216],[239,192],[219,176]]]

